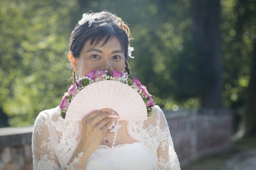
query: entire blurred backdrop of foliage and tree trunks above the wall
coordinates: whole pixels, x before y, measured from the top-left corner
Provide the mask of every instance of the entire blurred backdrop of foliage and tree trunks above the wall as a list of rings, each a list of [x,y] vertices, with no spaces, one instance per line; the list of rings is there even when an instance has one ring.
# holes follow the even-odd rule
[[[69,37],[90,10],[129,24],[131,71],[157,105],[231,110],[232,139],[255,147],[255,0],[2,0],[0,127],[32,125],[59,105],[72,72]]]

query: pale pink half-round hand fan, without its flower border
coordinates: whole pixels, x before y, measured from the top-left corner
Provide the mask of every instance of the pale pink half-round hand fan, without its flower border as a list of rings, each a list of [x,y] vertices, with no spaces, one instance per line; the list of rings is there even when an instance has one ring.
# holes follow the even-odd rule
[[[141,95],[131,86],[113,80],[92,83],[77,93],[65,119],[80,121],[95,110],[114,110],[120,120],[147,119],[147,109]]]

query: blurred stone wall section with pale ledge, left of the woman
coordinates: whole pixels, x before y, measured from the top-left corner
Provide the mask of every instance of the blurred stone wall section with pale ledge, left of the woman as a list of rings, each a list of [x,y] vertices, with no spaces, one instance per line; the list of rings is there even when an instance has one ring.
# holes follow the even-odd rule
[[[33,126],[0,128],[0,170],[32,170]]]

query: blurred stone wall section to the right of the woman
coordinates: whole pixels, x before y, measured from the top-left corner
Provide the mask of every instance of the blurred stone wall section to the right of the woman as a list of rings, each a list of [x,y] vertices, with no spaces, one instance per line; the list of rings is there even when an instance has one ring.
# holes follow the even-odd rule
[[[233,147],[229,110],[164,111],[181,166]]]

